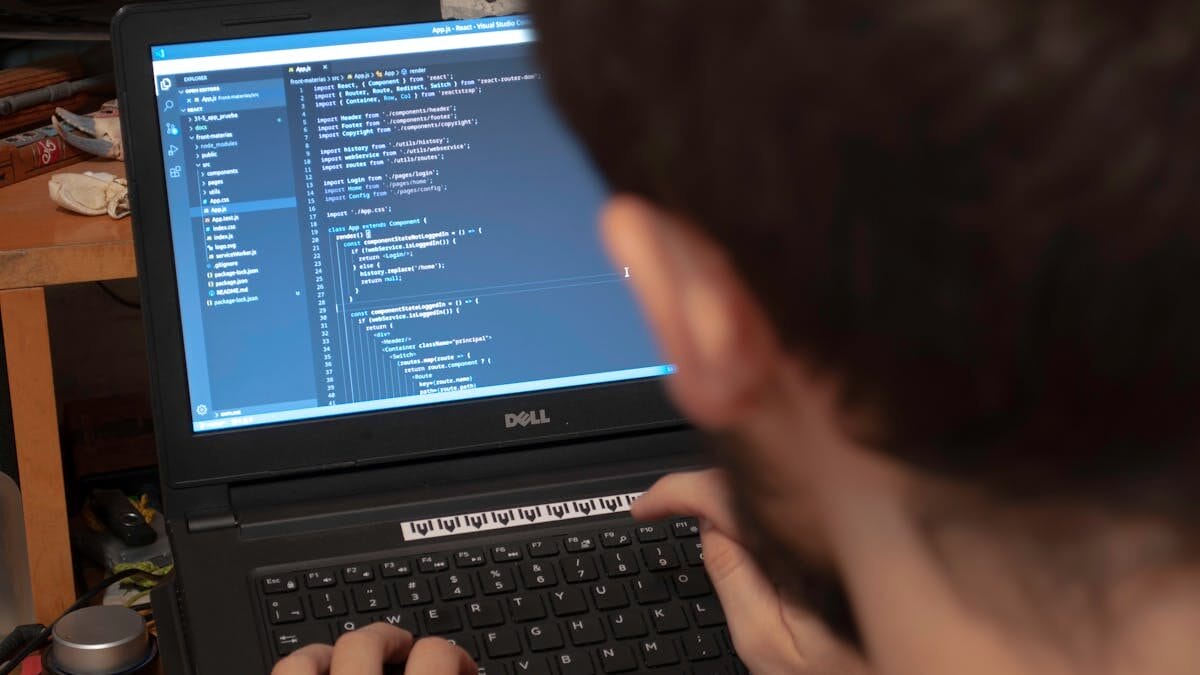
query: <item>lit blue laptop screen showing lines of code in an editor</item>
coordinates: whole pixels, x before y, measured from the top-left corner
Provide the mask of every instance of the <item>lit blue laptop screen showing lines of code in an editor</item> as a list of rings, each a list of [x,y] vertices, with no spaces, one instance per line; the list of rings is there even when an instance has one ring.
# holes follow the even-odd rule
[[[194,431],[671,372],[533,40],[504,17],[152,48]]]

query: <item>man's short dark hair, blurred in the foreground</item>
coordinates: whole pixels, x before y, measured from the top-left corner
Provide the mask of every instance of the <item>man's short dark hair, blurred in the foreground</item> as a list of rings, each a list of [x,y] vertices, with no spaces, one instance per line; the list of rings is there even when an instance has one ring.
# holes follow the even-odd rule
[[[871,443],[1194,513],[1200,4],[533,6],[611,186],[722,246]]]

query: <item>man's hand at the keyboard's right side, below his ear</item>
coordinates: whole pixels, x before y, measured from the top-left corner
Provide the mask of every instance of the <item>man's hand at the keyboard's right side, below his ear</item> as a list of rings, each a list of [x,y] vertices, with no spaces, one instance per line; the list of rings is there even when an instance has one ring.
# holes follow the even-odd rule
[[[863,658],[803,608],[780,598],[738,540],[728,484],[720,471],[676,473],[634,502],[638,520],[694,515],[704,568],[721,599],[738,657],[755,674],[866,674]]]

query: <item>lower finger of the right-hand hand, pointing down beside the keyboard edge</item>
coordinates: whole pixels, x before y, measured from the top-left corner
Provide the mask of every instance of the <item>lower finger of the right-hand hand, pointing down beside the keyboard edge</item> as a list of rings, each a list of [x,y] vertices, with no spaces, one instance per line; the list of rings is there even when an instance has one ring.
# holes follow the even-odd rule
[[[792,671],[794,643],[782,619],[779,591],[750,554],[713,525],[700,532],[704,569],[721,601],[730,634],[751,673]]]

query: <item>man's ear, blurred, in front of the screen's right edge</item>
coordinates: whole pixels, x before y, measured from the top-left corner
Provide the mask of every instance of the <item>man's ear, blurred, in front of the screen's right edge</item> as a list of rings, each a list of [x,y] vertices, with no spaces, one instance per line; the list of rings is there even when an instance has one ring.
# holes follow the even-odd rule
[[[682,412],[720,429],[737,422],[781,366],[775,333],[728,257],[691,223],[632,196],[601,217],[604,240],[677,366],[667,378]]]

